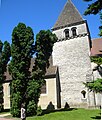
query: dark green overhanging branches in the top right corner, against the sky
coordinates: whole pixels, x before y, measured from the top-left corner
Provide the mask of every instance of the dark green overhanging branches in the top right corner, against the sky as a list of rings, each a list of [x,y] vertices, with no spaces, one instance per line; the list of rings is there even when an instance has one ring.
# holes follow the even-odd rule
[[[84,1],[92,1],[92,0],[84,0]],[[90,14],[100,14],[100,19],[102,21],[102,0],[95,0],[95,2],[91,3],[88,7],[87,10],[85,11],[84,15],[90,15]],[[99,35],[102,36],[102,26],[99,27],[100,33]]]

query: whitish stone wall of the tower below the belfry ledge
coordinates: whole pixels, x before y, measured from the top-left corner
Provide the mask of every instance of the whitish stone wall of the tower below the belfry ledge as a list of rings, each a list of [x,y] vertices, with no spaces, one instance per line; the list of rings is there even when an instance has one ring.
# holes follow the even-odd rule
[[[72,107],[87,107],[88,93],[83,82],[87,81],[87,74],[92,75],[89,53],[88,36],[54,44],[53,65],[59,67],[62,107],[66,102]],[[81,93],[83,90],[85,98]]]

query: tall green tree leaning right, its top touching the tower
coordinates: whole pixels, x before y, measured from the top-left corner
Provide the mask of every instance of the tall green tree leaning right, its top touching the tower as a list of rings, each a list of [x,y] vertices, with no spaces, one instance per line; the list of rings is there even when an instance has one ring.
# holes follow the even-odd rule
[[[44,82],[46,68],[49,67],[49,57],[52,54],[53,44],[57,37],[50,30],[41,30],[36,36],[35,51],[36,58],[32,70],[32,80],[28,85],[28,114],[36,114],[41,86]]]

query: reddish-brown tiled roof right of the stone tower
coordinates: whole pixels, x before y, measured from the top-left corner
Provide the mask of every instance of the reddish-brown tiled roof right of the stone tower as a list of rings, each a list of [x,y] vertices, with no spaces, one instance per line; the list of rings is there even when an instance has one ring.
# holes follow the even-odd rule
[[[92,40],[91,56],[102,57],[102,38]]]

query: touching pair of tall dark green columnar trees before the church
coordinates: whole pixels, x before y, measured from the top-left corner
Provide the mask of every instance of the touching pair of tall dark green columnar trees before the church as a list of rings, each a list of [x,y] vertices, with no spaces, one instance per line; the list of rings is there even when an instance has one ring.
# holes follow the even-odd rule
[[[55,34],[50,30],[41,30],[36,36],[24,23],[19,23],[12,32],[11,57],[9,72],[11,82],[11,114],[20,116],[21,105],[25,105],[27,116],[41,114],[38,108],[41,86],[44,81],[46,68],[49,67],[49,58],[53,44],[57,41]],[[35,54],[35,61],[30,70],[31,58]]]

